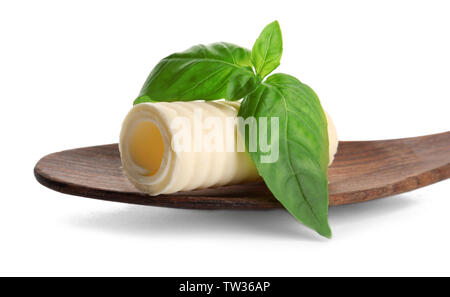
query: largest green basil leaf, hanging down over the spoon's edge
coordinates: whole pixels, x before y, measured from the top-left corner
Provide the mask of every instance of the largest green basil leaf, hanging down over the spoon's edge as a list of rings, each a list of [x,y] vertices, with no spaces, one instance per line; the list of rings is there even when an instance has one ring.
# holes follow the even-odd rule
[[[266,139],[271,139],[271,135],[279,132],[276,162],[262,162],[270,152],[264,153],[261,149],[252,152],[248,137],[247,150],[259,174],[281,204],[306,226],[331,237],[328,225],[327,120],[314,91],[295,77],[275,74],[244,99],[239,116],[256,118],[259,144],[261,135],[266,133]],[[279,131],[261,130],[260,122],[264,117],[278,117]],[[240,131],[244,131],[242,125]],[[276,143],[272,141],[269,145],[273,150]]]

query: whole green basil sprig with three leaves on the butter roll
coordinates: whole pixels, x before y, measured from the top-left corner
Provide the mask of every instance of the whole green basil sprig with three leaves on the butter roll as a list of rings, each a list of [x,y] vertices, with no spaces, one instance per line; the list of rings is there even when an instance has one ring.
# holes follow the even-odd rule
[[[310,87],[287,74],[266,78],[280,65],[282,52],[277,21],[264,28],[251,52],[225,42],[194,46],[161,60],[134,103],[244,98],[239,116],[255,117],[257,122],[278,117],[278,160],[261,162],[268,154],[261,150],[249,154],[280,203],[297,220],[331,237],[327,120]],[[248,137],[245,141],[248,149]]]

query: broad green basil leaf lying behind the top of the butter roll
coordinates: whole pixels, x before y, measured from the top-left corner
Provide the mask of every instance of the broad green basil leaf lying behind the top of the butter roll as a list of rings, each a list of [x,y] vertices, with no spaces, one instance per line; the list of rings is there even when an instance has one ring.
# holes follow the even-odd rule
[[[139,97],[153,101],[243,98],[256,85],[250,55],[248,49],[225,42],[172,54],[156,65]]]

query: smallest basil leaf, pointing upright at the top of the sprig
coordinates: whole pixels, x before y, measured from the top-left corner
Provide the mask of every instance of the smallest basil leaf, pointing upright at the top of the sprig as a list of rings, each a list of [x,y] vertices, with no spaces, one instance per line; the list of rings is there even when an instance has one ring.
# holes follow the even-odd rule
[[[252,49],[252,63],[256,74],[266,77],[280,65],[283,53],[283,39],[280,24],[275,21],[267,25],[259,35]]]

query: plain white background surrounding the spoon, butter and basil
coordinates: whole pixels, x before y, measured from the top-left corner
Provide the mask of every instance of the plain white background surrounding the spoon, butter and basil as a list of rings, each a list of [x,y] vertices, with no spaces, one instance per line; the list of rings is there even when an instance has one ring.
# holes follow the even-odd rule
[[[450,128],[448,1],[1,1],[0,274],[449,275],[450,183],[330,210],[333,239],[285,211],[196,211],[39,185],[45,154],[117,142],[159,59],[251,47],[279,20],[278,71],[319,94],[343,140]]]

